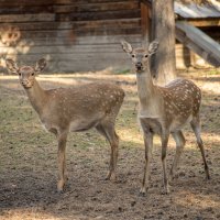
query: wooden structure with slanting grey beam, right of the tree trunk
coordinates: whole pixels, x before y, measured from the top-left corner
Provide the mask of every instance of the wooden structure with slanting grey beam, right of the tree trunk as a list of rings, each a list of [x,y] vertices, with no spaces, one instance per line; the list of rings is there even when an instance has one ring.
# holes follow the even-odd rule
[[[220,67],[220,2],[197,6],[176,1],[174,10],[177,67]]]

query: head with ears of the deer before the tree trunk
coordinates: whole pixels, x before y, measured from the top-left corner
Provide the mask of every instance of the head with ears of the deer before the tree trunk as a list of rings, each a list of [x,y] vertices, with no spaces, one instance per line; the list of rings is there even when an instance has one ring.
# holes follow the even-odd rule
[[[158,48],[158,42],[153,41],[150,43],[147,48],[132,48],[131,44],[122,41],[121,42],[122,48],[124,52],[129,54],[129,56],[132,59],[133,67],[136,73],[142,73],[145,70],[147,64],[148,64],[148,58],[156,53]]]

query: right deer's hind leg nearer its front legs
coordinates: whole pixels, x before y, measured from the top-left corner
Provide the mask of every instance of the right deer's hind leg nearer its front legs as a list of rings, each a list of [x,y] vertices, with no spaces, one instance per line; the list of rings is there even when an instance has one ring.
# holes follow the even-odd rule
[[[185,143],[186,143],[186,140],[185,140],[182,131],[177,131],[175,133],[172,133],[172,135],[173,135],[173,138],[176,142],[176,154],[175,154],[174,162],[173,162],[172,169],[170,169],[170,176],[169,176],[170,179],[174,178],[177,166],[179,164],[180,155],[183,153],[183,150],[184,150],[184,146],[185,146]]]

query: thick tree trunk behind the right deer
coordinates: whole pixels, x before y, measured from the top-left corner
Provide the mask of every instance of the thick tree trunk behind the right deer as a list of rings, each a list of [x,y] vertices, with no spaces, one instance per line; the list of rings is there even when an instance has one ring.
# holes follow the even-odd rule
[[[152,38],[160,42],[152,57],[152,74],[158,85],[164,85],[176,76],[173,0],[152,0]]]

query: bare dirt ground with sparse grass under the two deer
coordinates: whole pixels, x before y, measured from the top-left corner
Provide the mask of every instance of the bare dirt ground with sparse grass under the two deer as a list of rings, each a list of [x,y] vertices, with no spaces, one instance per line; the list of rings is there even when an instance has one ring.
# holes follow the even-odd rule
[[[201,155],[189,127],[187,144],[172,193],[162,194],[158,138],[153,151],[151,188],[139,195],[144,147],[136,122],[133,75],[88,73],[41,75],[44,88],[69,87],[94,80],[120,84],[127,97],[117,121],[120,135],[118,182],[105,180],[110,147],[96,131],[72,133],[67,143],[68,184],[56,193],[56,140],[46,133],[16,76],[0,76],[0,220],[144,220],[220,219],[220,74],[185,73],[202,90],[202,139],[211,180],[205,179]],[[167,165],[175,154],[169,141]]]

